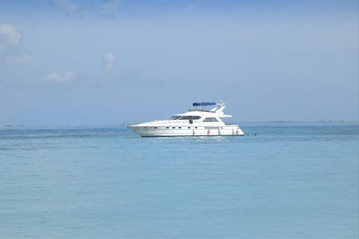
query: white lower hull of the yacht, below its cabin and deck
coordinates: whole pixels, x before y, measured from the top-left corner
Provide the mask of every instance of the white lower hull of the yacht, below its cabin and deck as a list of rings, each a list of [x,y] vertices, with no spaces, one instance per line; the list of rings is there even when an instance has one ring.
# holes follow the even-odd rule
[[[130,125],[142,137],[180,137],[180,136],[242,136],[237,125],[222,127],[148,127]]]

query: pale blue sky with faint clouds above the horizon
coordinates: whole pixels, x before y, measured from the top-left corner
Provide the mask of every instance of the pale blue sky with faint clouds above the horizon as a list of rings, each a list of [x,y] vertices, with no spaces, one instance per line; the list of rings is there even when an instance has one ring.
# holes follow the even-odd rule
[[[358,2],[0,0],[0,126],[358,120]]]

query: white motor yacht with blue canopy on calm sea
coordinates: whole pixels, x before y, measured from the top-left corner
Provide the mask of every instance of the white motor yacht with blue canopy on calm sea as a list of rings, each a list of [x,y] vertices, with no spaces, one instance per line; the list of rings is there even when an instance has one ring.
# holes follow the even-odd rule
[[[206,106],[215,106],[215,102],[193,103],[193,107]],[[128,127],[142,137],[244,135],[238,125],[223,123],[221,118],[232,117],[223,114],[224,107],[221,101],[211,110],[190,109],[184,114],[173,115],[169,120],[132,124]]]

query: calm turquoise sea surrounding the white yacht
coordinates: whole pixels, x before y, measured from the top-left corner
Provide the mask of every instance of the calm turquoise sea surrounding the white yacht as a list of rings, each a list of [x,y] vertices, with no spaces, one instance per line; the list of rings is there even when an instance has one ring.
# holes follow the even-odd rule
[[[358,238],[358,124],[240,126],[2,128],[0,238]]]

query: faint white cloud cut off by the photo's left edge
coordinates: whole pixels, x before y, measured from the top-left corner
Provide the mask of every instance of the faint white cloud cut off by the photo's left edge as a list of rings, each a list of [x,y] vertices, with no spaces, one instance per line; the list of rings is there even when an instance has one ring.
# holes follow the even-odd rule
[[[0,54],[5,50],[17,47],[22,39],[22,33],[16,30],[13,25],[0,24]]]

